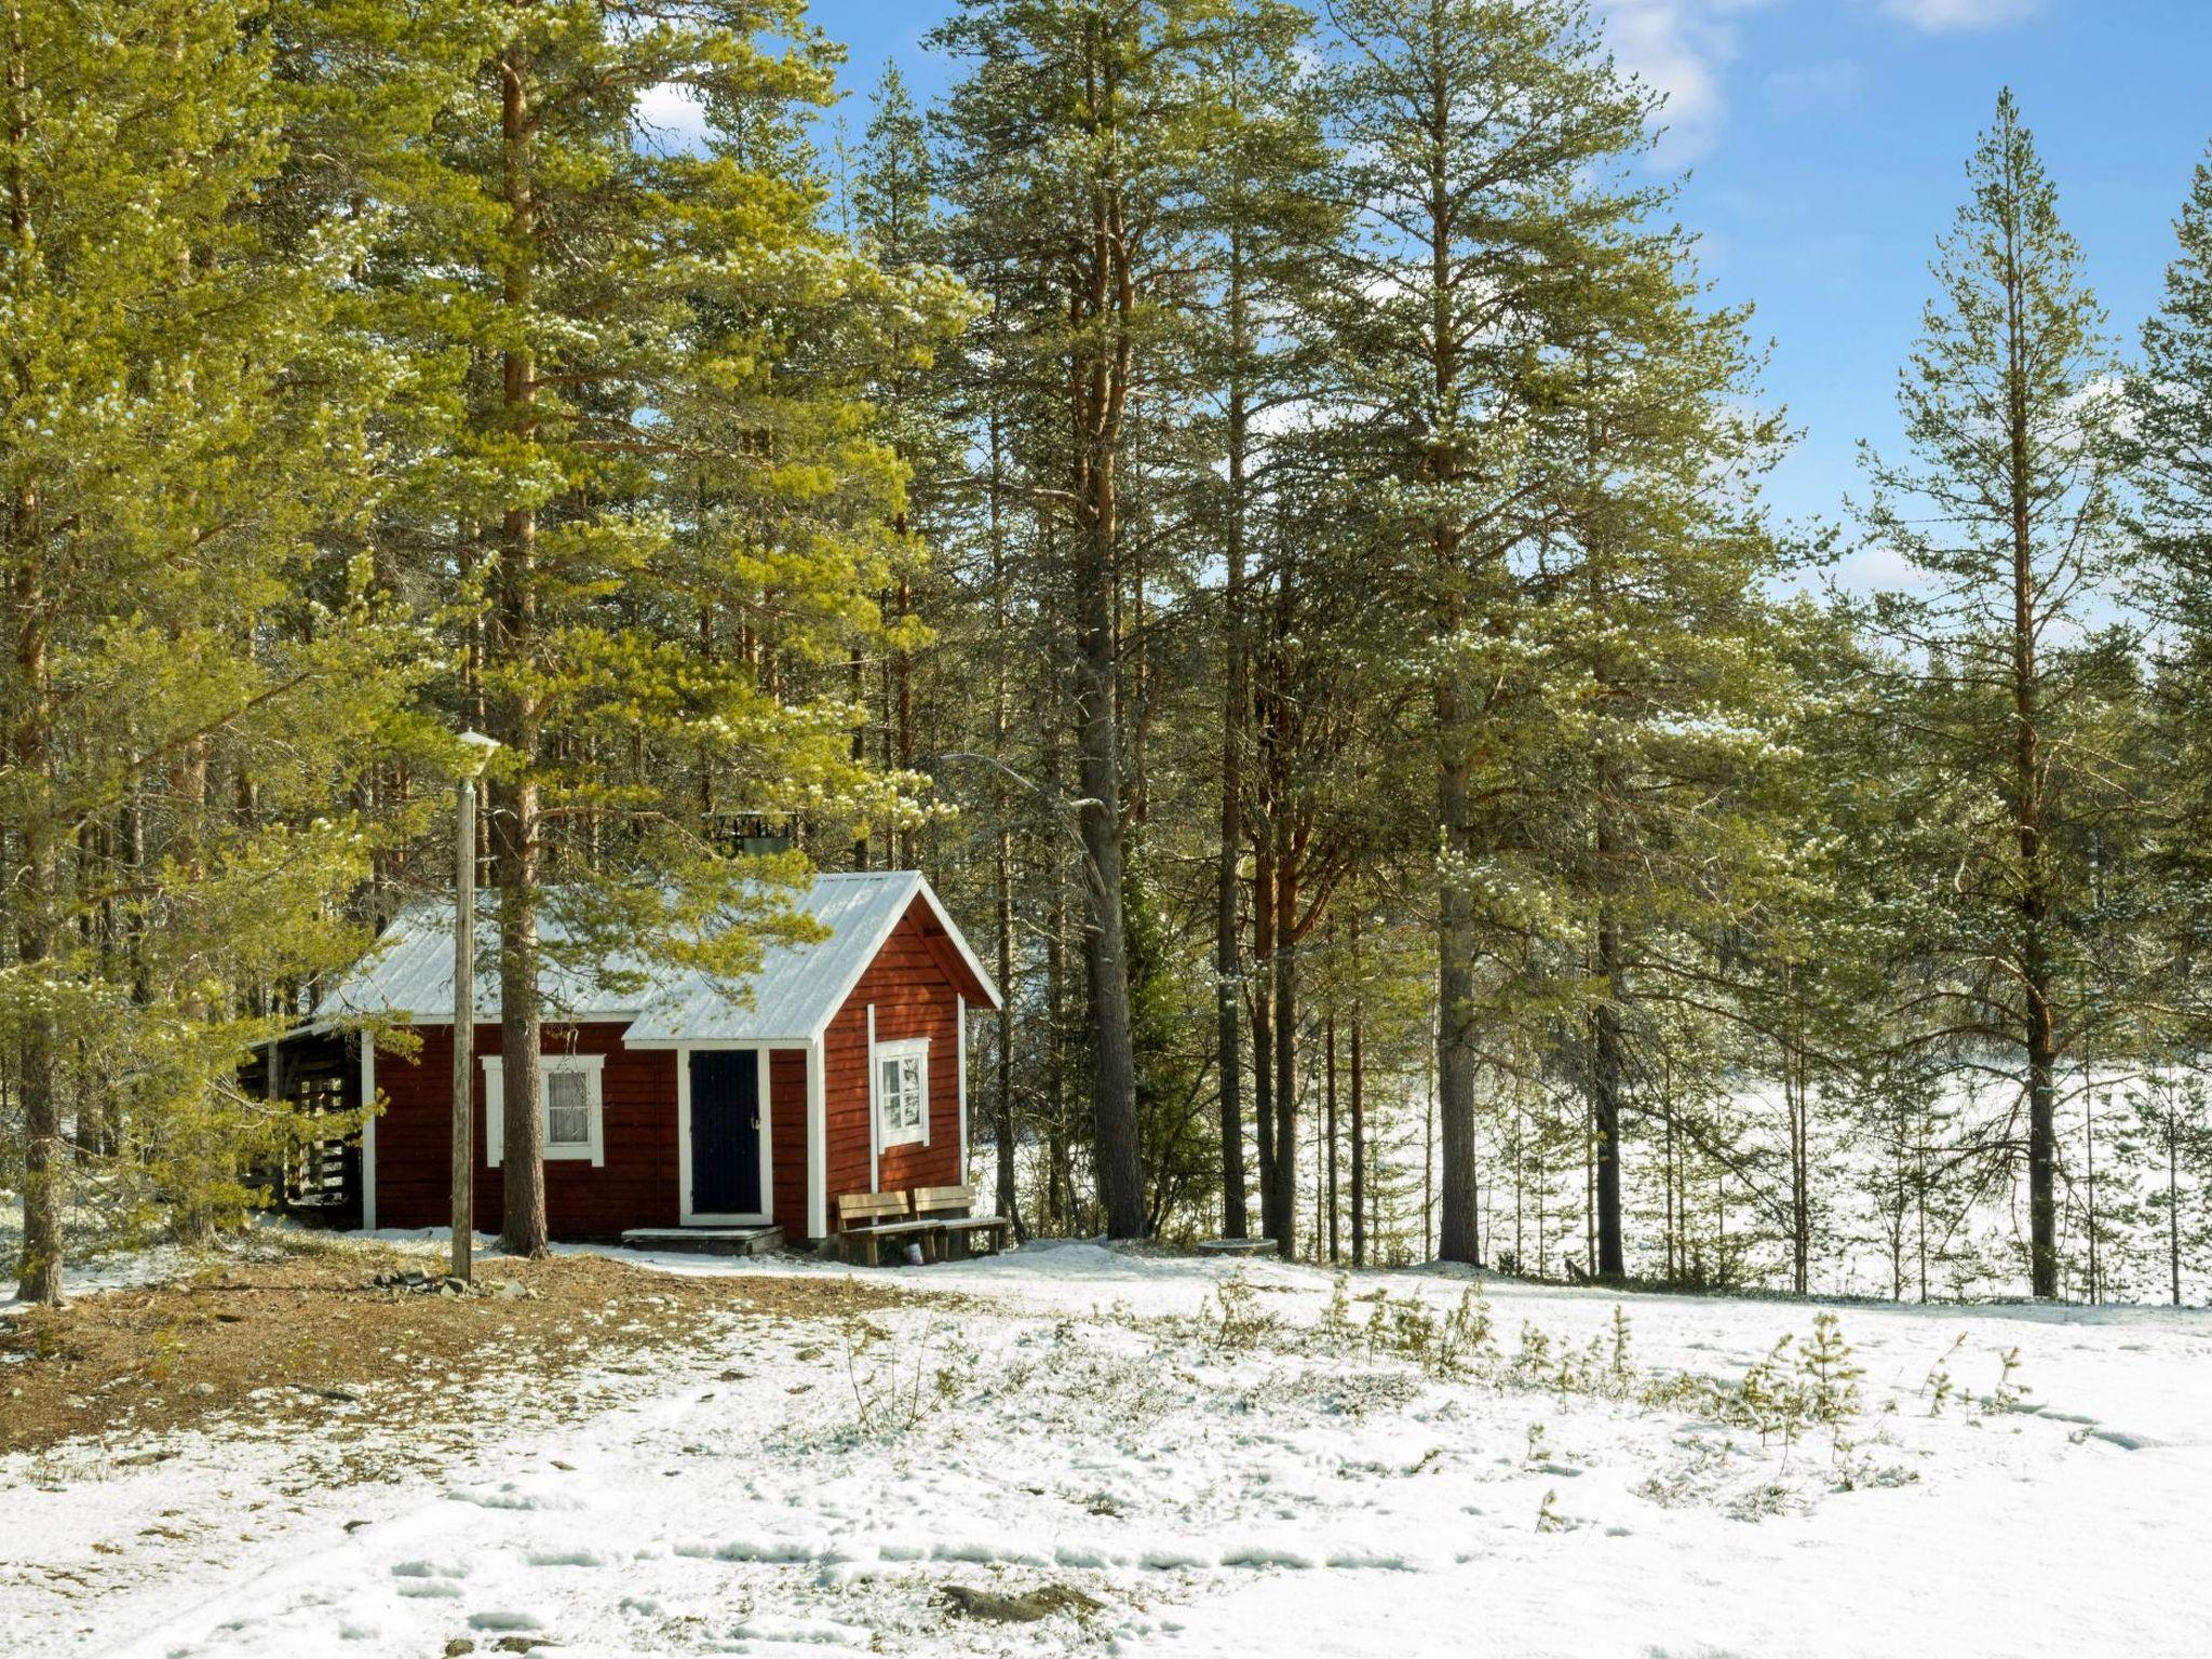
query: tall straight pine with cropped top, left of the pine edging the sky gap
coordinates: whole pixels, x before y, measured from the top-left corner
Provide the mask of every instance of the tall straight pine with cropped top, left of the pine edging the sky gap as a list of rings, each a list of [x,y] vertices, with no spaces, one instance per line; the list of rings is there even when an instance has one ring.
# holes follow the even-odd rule
[[[1613,175],[1652,106],[1566,0],[1347,0],[1332,24],[1332,135],[1358,208],[1336,281],[1343,396],[1369,434],[1400,624],[1427,637],[1440,1252],[1475,1261],[1484,922],[1511,936],[1528,920],[1526,891],[1484,880],[1513,765],[1491,757],[1528,734],[1486,690],[1520,684],[1511,560],[1542,518],[1520,460],[1555,394],[1546,347],[1630,212]]]

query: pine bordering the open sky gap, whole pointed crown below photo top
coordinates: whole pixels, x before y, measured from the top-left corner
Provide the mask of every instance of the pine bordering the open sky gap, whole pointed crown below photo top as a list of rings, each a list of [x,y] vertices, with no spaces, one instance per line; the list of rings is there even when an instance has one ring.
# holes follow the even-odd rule
[[[1595,1272],[1619,1276],[1624,1106],[1630,1077],[1650,1073],[1635,1026],[1648,1000],[1712,978],[1708,940],[1759,896],[1776,836],[1747,785],[1787,712],[1787,675],[1763,599],[1778,560],[1754,500],[1776,425],[1741,414],[1756,396],[1747,319],[1699,305],[1677,230],[1630,217],[1593,252],[1584,312],[1559,325],[1557,418],[1524,460],[1555,502],[1522,624],[1542,641],[1528,699],[1553,743],[1517,794],[1533,863],[1577,911]]]

